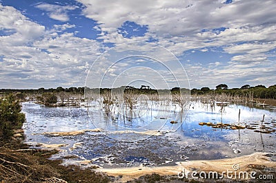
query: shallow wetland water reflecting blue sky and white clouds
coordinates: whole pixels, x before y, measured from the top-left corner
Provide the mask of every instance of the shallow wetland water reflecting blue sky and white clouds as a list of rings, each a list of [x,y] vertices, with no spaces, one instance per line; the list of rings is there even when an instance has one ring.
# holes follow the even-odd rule
[[[143,118],[124,121],[112,119],[102,111],[86,107],[45,107],[34,103],[23,103],[23,112],[27,122],[23,129],[26,142],[30,144],[68,144],[61,147],[63,151],[53,158],[64,158],[77,155],[72,160],[92,160],[92,164],[103,167],[116,166],[165,166],[185,160],[214,160],[246,155],[256,151],[274,153],[276,136],[273,133],[258,133],[250,129],[214,129],[200,126],[199,122],[223,122],[238,124],[239,109],[241,116],[239,124],[250,125],[259,129],[262,116],[264,124],[270,129],[276,128],[276,111],[273,107],[253,108],[242,105],[228,105],[220,112],[221,107],[190,103],[190,109],[184,122],[175,125],[171,120],[179,120],[177,110],[168,113],[152,110]],[[88,113],[92,114],[88,116]],[[145,117],[146,116],[146,117]],[[166,117],[163,119],[163,117]],[[161,119],[160,119],[161,117]],[[150,122],[148,122],[150,121]],[[143,123],[144,122],[144,123]],[[100,123],[100,124],[99,124]],[[161,125],[161,127],[159,127]],[[125,125],[125,126],[124,126]],[[144,127],[145,125],[146,127]],[[45,132],[77,131],[104,127],[104,133],[86,131],[77,136],[51,136]],[[157,129],[159,136],[148,136],[143,132]],[[179,127],[179,128],[175,128]],[[128,133],[124,133],[128,130]],[[106,136],[108,134],[108,136]],[[137,138],[138,140],[129,140]],[[124,140],[124,141],[122,141]],[[73,145],[81,142],[72,149]]]

